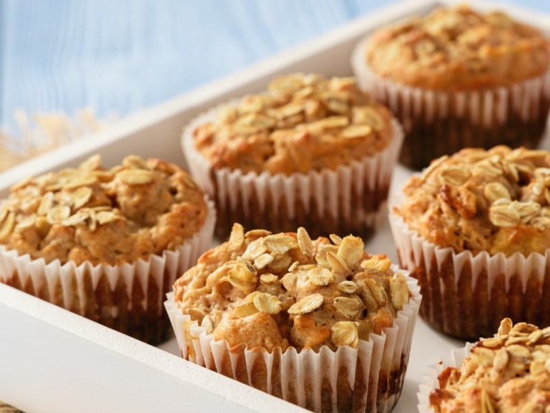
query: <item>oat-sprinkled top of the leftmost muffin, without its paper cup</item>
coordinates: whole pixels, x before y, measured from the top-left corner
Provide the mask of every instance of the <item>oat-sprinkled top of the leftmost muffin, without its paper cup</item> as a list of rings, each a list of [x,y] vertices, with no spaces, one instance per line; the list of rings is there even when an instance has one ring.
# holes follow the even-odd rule
[[[207,215],[203,192],[184,169],[138,156],[111,169],[92,156],[10,191],[0,209],[0,243],[62,264],[147,260],[192,237]]]

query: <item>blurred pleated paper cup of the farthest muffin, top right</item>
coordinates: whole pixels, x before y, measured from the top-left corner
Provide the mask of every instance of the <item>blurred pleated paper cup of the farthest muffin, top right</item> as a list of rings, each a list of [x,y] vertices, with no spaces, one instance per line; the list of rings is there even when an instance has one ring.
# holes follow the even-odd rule
[[[355,47],[353,72],[361,89],[388,106],[403,125],[404,165],[421,169],[465,147],[534,148],[542,139],[550,109],[550,70],[509,86],[433,91],[375,74],[366,63],[368,43],[366,38]]]

